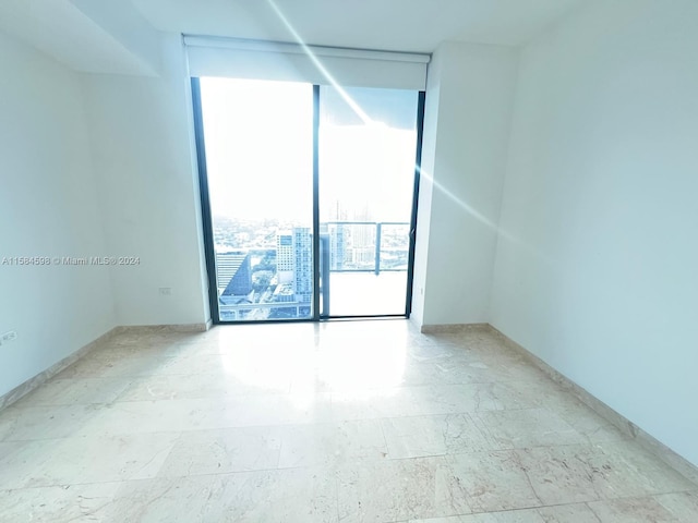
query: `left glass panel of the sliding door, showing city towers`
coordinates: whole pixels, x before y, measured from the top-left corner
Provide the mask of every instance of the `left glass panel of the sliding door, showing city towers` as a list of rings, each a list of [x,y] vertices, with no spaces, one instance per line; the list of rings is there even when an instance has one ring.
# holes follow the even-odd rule
[[[203,77],[219,321],[313,317],[313,86]]]

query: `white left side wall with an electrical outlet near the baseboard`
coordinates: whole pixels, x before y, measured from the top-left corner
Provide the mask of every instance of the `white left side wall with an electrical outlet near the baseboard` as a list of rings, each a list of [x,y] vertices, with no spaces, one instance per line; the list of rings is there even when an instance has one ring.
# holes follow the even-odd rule
[[[106,256],[75,73],[0,33],[0,396],[115,326],[104,267],[11,266]]]

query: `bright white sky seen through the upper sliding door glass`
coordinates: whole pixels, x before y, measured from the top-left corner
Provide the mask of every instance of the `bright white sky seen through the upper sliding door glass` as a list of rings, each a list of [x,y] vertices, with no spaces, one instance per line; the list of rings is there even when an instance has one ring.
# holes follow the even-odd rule
[[[212,211],[231,219],[312,223],[313,86],[201,80]],[[321,89],[321,220],[410,221],[417,93]]]

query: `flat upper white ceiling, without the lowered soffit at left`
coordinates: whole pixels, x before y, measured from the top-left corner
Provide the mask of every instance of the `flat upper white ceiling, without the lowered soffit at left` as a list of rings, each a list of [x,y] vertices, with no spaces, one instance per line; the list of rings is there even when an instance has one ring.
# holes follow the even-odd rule
[[[518,46],[581,1],[132,0],[161,31],[293,40],[281,14],[306,44],[426,52],[447,39]]]

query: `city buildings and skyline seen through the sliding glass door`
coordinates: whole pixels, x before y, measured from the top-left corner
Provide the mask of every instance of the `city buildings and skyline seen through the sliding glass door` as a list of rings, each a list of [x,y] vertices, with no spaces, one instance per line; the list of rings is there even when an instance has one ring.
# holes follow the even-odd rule
[[[227,220],[228,228],[218,228],[218,236],[238,238],[216,251],[216,280],[219,309],[224,319],[274,319],[306,317],[311,314],[313,295],[312,233],[306,227],[281,228],[266,221],[266,229],[249,221],[242,226]],[[321,232],[323,256],[329,257],[334,272],[376,272],[376,248],[380,248],[382,270],[405,271],[408,263],[408,224],[381,226],[333,224]],[[246,229],[250,228],[250,229]],[[400,230],[401,228],[401,230]],[[353,230],[352,230],[353,229]],[[275,232],[272,232],[275,231]],[[255,242],[255,232],[265,245]],[[273,244],[269,238],[274,238]],[[325,238],[326,240],[322,240]],[[257,239],[258,240],[258,239]],[[378,246],[377,242],[381,242]],[[250,247],[250,245],[256,245]],[[325,275],[328,278],[329,273]],[[322,277],[321,277],[322,278]],[[258,307],[278,303],[278,307]],[[296,313],[293,315],[293,309]]]

